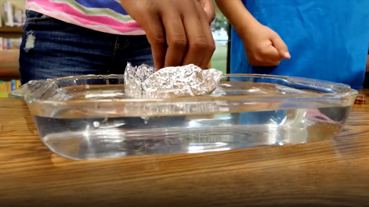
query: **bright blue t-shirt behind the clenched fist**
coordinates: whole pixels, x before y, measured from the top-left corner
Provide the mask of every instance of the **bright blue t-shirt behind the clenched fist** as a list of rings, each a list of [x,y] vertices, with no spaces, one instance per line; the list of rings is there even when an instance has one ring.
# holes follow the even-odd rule
[[[232,29],[231,73],[299,76],[362,88],[369,42],[368,0],[242,0],[286,43],[291,59],[278,67],[248,64]]]

